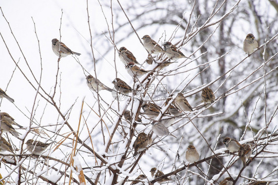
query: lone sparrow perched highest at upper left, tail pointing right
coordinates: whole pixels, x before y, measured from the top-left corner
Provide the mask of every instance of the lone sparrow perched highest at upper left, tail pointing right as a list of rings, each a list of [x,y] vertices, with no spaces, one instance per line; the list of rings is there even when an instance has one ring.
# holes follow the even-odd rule
[[[80,53],[73,52],[63,42],[60,42],[57,38],[52,39],[52,50],[58,57],[66,57],[68,55],[81,55]]]

